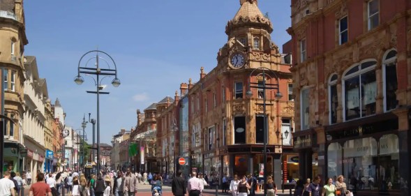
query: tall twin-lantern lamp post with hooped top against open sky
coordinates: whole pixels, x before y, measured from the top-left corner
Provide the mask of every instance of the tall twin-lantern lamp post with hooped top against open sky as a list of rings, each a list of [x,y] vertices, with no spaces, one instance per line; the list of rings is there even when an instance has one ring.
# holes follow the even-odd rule
[[[84,58],[84,56],[87,56],[88,54],[91,54],[93,52],[96,52],[96,56],[91,56],[85,63],[85,66],[82,67],[80,66],[80,63],[82,63],[82,59]],[[110,63],[109,61],[107,61],[105,58],[102,58],[100,56],[98,56],[98,54],[101,53],[105,56],[107,56],[107,59],[110,59],[109,61],[111,61],[110,63],[112,63],[114,65],[114,69],[110,68]],[[95,68],[91,68],[91,67],[87,67],[87,63],[89,63],[91,61],[91,59],[96,59],[96,63],[95,63]],[[108,68],[100,68],[99,65],[99,60],[105,61],[105,63],[107,64]],[[110,56],[109,54],[100,51],[100,50],[91,50],[89,52],[86,52],[85,54],[83,54],[83,56],[80,58],[79,62],[78,62],[78,72],[77,72],[77,76],[74,79],[74,82],[76,84],[83,84],[84,82],[84,78],[80,75],[80,74],[84,74],[84,75],[96,75],[96,79],[93,78],[94,80],[94,84],[96,84],[96,91],[87,91],[87,93],[95,93],[97,94],[97,171],[100,172],[100,94],[108,94],[109,92],[103,92],[100,90],[103,90],[105,88],[105,85],[101,85],[101,82],[103,81],[103,79],[105,77],[109,77],[109,76],[114,76],[114,79],[112,80],[112,85],[114,87],[118,87],[121,82],[119,80],[119,78],[117,78],[117,66],[116,63],[114,62],[114,60],[112,59],[112,56]],[[105,77],[101,78],[100,80],[100,75],[103,75]]]

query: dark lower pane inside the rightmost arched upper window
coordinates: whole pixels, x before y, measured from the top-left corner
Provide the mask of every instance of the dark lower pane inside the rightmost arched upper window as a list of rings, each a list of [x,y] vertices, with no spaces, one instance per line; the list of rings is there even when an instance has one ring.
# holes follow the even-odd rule
[[[386,96],[386,110],[392,110],[396,108],[397,96],[396,90],[398,89],[397,82],[397,69],[394,63],[388,64],[385,67],[385,96]]]

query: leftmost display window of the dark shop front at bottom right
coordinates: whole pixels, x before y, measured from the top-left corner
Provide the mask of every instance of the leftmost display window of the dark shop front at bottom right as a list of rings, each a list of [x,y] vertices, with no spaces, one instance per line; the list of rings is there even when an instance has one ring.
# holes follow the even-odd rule
[[[331,178],[334,178],[334,176],[339,176],[343,174],[343,165],[342,165],[342,160],[343,160],[343,147],[338,144],[338,143],[332,143],[329,144],[328,150],[327,150],[327,156],[328,156],[328,176]],[[346,178],[348,176],[345,176]],[[348,183],[348,181],[345,181],[345,183]]]

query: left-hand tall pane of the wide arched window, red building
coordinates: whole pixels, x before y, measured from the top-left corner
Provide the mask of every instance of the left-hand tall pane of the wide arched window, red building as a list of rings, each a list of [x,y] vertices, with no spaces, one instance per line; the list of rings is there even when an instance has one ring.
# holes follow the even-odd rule
[[[345,120],[357,119],[359,111],[359,76],[345,80]]]

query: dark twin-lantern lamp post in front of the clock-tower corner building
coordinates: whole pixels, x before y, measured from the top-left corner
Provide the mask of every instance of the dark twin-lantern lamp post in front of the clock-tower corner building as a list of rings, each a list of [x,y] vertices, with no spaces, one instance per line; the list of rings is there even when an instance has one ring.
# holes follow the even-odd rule
[[[257,76],[262,76],[262,83],[258,83],[258,82],[251,82],[251,77],[253,77],[253,74],[255,73],[255,71],[257,71]],[[272,79],[273,77],[276,78],[277,80],[277,84],[267,84],[267,77],[269,77],[269,79]],[[271,80],[270,80],[271,81]],[[274,72],[274,70],[271,70],[269,68],[264,68],[264,67],[260,67],[260,68],[255,68],[251,71],[250,75],[248,76],[248,91],[246,92],[246,96],[248,98],[253,98],[253,91],[251,91],[251,88],[255,88],[255,89],[262,89],[262,107],[263,107],[263,113],[264,113],[264,120],[263,120],[263,131],[264,131],[264,144],[263,144],[263,149],[264,149],[264,175],[263,175],[263,179],[264,179],[264,183],[267,183],[267,104],[266,104],[266,90],[277,90],[277,93],[275,95],[276,99],[280,99],[283,97],[283,94],[281,94],[280,92],[280,81],[278,76],[276,75],[276,73]],[[264,186],[264,195],[267,195],[267,186]]]

